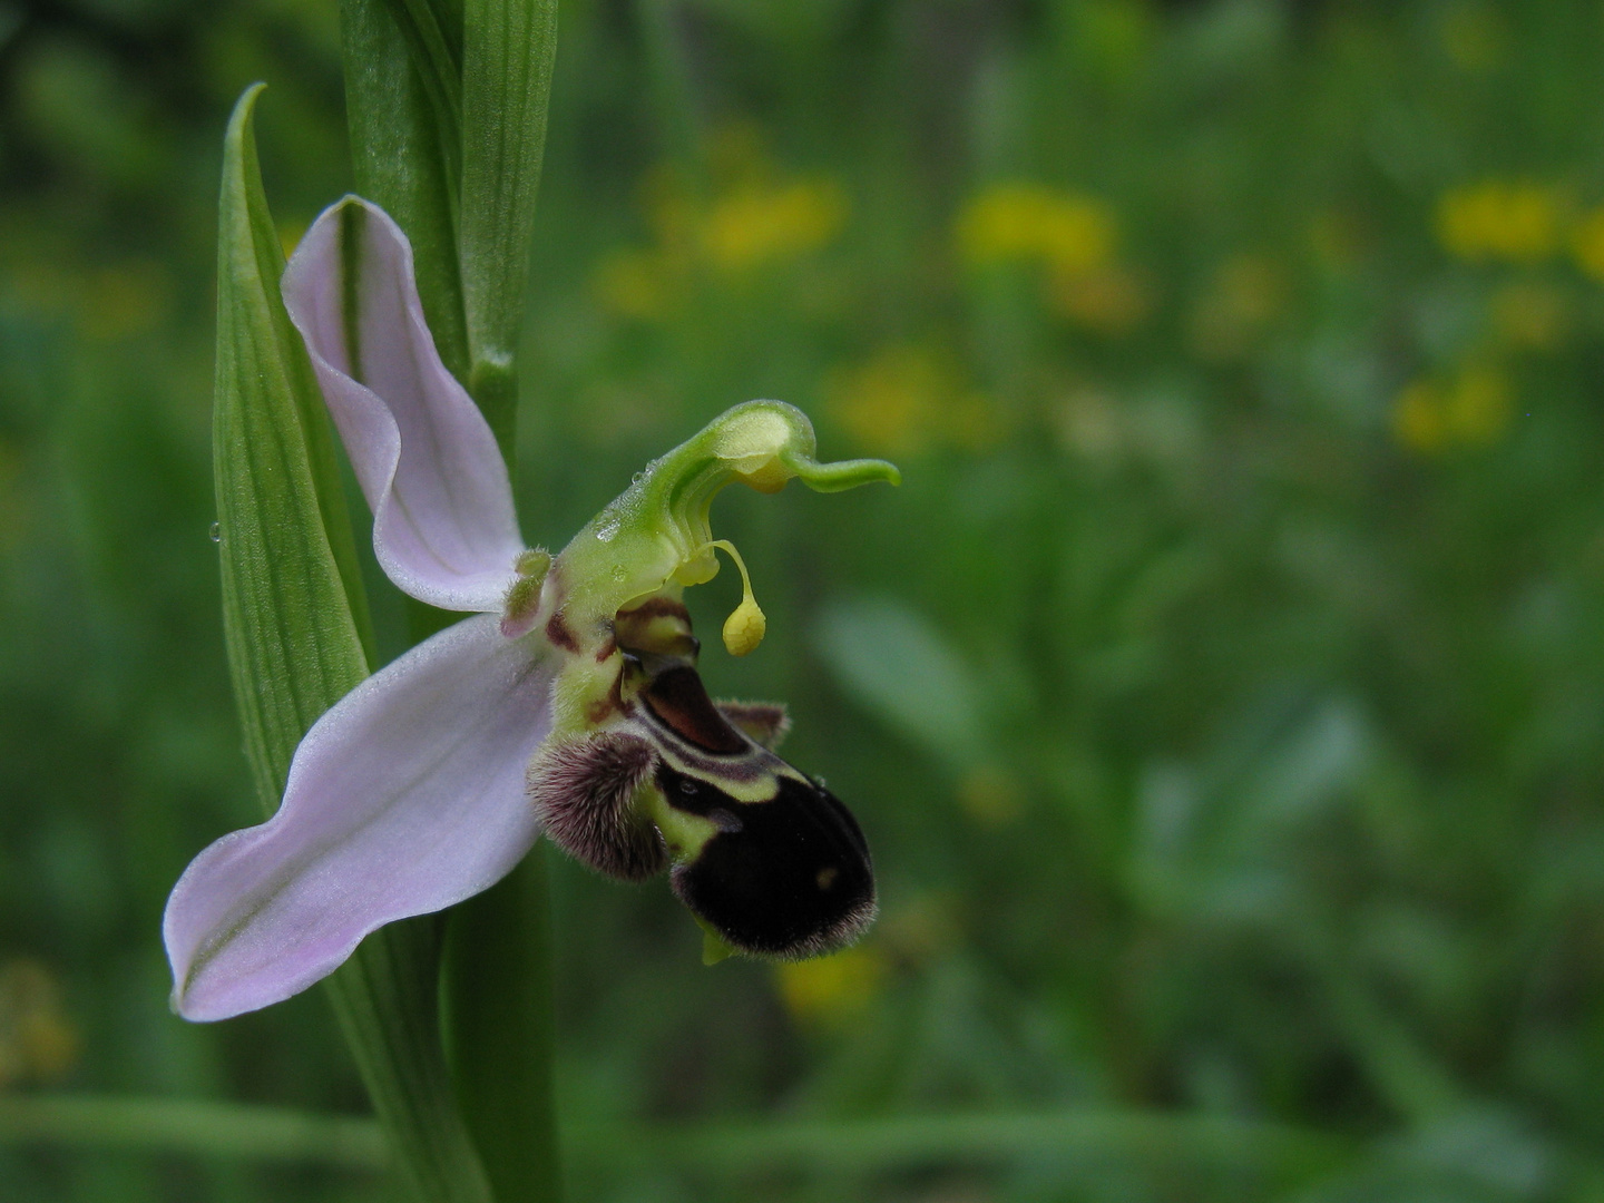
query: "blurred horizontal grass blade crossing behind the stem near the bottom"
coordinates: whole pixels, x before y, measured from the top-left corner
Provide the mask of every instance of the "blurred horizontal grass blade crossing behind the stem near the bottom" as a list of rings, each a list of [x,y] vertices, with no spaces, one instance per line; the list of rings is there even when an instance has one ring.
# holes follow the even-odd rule
[[[0,1097],[0,1145],[138,1148],[348,1169],[388,1155],[375,1126],[252,1104],[107,1096]],[[1075,1160],[1251,1173],[1278,1187],[1309,1184],[1378,1153],[1458,1161],[1487,1150],[1503,1163],[1543,1158],[1506,1116],[1456,1113],[1447,1123],[1360,1142],[1291,1124],[1187,1112],[1075,1108],[908,1115],[863,1120],[757,1120],[585,1124],[568,1142],[587,1168],[674,1166],[698,1174],[884,1174],[932,1166]],[[1506,1171],[1508,1174],[1508,1171]],[[515,1197],[525,1203],[528,1195]]]

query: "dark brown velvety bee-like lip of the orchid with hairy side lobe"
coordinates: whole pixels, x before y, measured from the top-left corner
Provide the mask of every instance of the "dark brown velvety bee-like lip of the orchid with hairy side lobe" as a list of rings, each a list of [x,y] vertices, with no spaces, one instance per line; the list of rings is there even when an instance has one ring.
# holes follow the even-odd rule
[[[784,707],[715,704],[675,600],[619,614],[616,637],[621,672],[606,712],[590,717],[616,714],[619,728],[529,767],[552,842],[613,877],[650,877],[669,866],[650,818],[667,826],[667,805],[707,820],[711,834],[675,847],[672,885],[725,943],[802,959],[858,938],[874,919],[869,845],[834,794],[768,751],[791,725]]]

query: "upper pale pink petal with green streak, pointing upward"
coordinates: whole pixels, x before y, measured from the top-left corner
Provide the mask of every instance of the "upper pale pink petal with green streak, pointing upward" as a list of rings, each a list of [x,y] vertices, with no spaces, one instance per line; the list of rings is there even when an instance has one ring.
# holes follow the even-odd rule
[[[523,550],[507,465],[439,361],[406,234],[358,197],[324,210],[284,273],[284,305],[372,507],[385,573],[444,610],[500,610]]]

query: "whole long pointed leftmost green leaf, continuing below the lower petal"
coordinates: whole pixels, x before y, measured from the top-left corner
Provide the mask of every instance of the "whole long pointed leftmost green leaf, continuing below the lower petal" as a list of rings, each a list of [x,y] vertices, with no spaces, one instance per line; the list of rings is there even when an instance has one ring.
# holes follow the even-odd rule
[[[356,577],[327,417],[279,295],[284,255],[268,213],[249,90],[229,120],[218,225],[213,467],[223,626],[263,808],[318,717],[367,675]],[[327,512],[327,518],[326,518]],[[351,569],[354,573],[354,568]],[[436,921],[369,937],[330,978],[380,1121],[427,1200],[489,1198],[457,1115],[436,1022]]]

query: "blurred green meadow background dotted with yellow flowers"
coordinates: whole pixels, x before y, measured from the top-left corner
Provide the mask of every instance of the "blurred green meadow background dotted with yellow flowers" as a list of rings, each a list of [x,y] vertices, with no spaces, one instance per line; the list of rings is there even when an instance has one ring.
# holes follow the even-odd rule
[[[257,79],[292,242],[350,186],[332,3],[0,5],[0,1102],[366,1105],[321,996],[184,1025],[159,942],[255,821],[207,533]],[[882,921],[703,969],[553,865],[573,1198],[1604,1198],[1601,202],[1596,3],[566,3],[525,534],[752,396],[906,481],[722,500],[770,637],[704,658],[789,699]],[[1044,1113],[1108,1139],[829,1152]],[[823,1144],[606,1139],[728,1118]],[[1118,1136],[1177,1118],[1245,1123]],[[391,1185],[0,1142],[0,1195]]]

